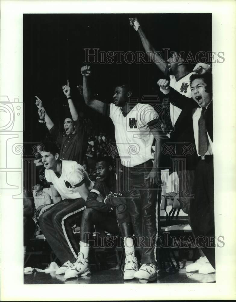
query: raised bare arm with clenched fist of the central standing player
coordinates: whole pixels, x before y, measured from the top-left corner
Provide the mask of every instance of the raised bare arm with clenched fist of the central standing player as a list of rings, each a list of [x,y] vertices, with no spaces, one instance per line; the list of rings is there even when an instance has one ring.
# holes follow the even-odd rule
[[[81,68],[81,74],[83,76],[83,98],[87,106],[90,108],[93,108],[97,112],[105,115],[106,114],[106,109],[107,105],[99,100],[96,100],[91,92],[90,88],[90,66],[83,66]]]

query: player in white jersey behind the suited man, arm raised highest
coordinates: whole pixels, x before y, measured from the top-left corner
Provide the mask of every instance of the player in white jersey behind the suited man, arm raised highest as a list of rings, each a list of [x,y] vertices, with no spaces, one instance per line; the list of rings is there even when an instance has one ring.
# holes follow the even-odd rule
[[[191,72],[191,64],[184,63],[183,58],[180,56],[180,52],[176,51],[171,52],[171,56],[168,58],[167,62],[165,62],[165,60],[159,55],[159,53],[147,39],[137,18],[130,18],[130,24],[139,34],[144,50],[151,58],[153,63],[155,63],[156,66],[164,73],[166,78],[169,78],[169,86],[187,98],[191,98],[189,78],[192,74],[194,74]],[[162,91],[162,88],[160,88],[160,90]],[[190,146],[188,143],[191,141],[191,133],[189,133],[189,129],[187,127],[189,120],[180,108],[171,103],[170,118],[173,126],[173,131],[170,133],[170,143],[174,145],[177,158],[179,158],[179,156],[185,156],[185,163],[183,164],[182,162],[176,162],[175,169],[177,170],[179,177],[179,200],[181,208],[185,213],[188,213],[190,198],[192,198],[191,191],[193,187],[195,170],[194,150],[192,152],[192,156],[189,156],[189,154],[186,156],[186,154],[183,153],[184,149],[193,148],[193,146]]]

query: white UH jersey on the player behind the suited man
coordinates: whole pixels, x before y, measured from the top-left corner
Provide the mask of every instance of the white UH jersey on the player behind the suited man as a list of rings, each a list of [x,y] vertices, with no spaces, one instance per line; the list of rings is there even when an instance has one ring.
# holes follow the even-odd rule
[[[176,91],[180,92],[182,95],[187,96],[187,98],[191,98],[191,89],[190,89],[190,76],[194,74],[194,72],[190,72],[180,80],[176,81],[175,76],[170,76],[170,87],[174,88]],[[172,122],[172,126],[174,127],[180,113],[181,109],[170,104],[170,118]]]

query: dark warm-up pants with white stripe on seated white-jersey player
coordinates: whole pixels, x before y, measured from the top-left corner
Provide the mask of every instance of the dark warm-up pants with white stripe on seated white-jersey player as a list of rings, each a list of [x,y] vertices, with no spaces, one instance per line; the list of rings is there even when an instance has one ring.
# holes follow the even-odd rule
[[[77,259],[79,245],[71,226],[80,223],[86,202],[82,198],[64,199],[50,207],[39,217],[39,226],[61,264]]]

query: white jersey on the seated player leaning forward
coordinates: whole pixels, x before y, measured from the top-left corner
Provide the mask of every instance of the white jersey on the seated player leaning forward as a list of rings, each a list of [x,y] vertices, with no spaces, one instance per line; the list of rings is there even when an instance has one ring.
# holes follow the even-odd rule
[[[87,188],[93,188],[93,183],[88,178],[84,168],[73,160],[62,160],[62,172],[59,178],[52,170],[45,170],[44,173],[47,182],[54,185],[62,198],[81,198],[76,187],[79,187],[84,182]]]

